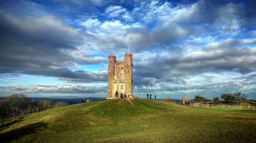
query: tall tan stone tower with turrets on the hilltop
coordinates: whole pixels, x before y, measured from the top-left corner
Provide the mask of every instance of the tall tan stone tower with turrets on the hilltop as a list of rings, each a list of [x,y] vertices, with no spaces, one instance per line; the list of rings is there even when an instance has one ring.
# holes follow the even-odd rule
[[[115,99],[116,91],[120,95],[133,98],[133,54],[125,53],[124,62],[117,62],[115,55],[109,55],[108,95],[106,99]]]

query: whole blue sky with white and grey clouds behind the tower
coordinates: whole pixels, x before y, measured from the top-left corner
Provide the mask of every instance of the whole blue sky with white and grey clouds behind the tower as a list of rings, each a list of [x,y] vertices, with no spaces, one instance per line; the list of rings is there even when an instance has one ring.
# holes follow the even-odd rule
[[[133,94],[256,99],[255,1],[1,1],[0,96],[108,92],[133,54]]]

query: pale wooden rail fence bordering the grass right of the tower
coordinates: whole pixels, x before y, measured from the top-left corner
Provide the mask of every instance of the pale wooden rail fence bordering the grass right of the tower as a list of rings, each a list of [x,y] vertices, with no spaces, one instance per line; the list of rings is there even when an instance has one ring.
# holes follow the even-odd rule
[[[191,103],[191,105],[193,105],[193,106],[215,107],[215,108],[230,108],[230,109],[256,109],[256,106],[233,106],[233,105],[198,104],[198,103]]]

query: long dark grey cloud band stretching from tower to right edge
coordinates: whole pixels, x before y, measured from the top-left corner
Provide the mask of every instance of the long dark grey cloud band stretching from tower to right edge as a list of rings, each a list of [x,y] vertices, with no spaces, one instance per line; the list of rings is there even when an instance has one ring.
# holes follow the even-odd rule
[[[185,77],[205,72],[238,71],[250,73],[256,70],[256,51],[251,48],[225,49],[188,53],[183,56],[156,54],[152,61],[134,64],[134,75],[139,77]],[[136,61],[135,61],[136,62]]]

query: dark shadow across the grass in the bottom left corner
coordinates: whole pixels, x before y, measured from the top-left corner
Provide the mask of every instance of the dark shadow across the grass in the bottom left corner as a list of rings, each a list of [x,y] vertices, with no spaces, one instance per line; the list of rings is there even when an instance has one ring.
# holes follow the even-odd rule
[[[30,124],[15,130],[4,132],[0,134],[1,142],[9,142],[14,139],[22,138],[24,136],[35,133],[36,131],[47,128],[47,124],[44,122],[37,122]]]

